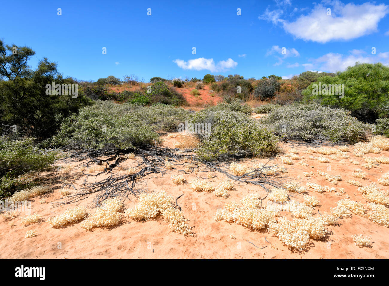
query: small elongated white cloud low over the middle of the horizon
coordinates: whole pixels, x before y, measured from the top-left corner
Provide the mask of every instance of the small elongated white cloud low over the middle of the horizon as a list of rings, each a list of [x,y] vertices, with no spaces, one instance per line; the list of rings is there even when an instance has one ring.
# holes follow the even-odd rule
[[[233,61],[231,58],[225,61],[219,61],[215,63],[214,59],[197,58],[194,60],[174,60],[177,66],[184,70],[210,70],[210,72],[225,72],[230,68],[235,68],[238,63]]]

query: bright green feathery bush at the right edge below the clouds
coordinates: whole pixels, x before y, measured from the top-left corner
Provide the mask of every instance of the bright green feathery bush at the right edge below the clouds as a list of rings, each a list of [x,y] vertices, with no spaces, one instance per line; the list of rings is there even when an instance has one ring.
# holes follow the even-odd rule
[[[375,122],[378,117],[388,115],[389,67],[381,63],[356,64],[336,76],[324,76],[315,84],[344,84],[344,96],[314,95],[314,84],[303,91],[306,101],[319,102],[330,107],[342,107],[362,121]]]

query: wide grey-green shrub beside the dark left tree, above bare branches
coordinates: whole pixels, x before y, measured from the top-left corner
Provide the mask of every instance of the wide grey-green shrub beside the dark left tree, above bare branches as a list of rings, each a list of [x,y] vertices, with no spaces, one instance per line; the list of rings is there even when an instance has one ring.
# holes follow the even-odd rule
[[[71,149],[136,149],[158,140],[157,130],[178,128],[187,115],[182,108],[163,104],[142,107],[97,101],[93,106],[80,109],[79,114],[66,118],[51,144]]]

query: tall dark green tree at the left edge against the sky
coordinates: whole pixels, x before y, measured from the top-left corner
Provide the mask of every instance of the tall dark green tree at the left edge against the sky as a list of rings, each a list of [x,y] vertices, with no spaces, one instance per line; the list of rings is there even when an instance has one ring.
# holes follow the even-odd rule
[[[35,54],[28,47],[17,47],[12,54],[0,41],[0,123],[16,125],[27,135],[49,137],[65,118],[79,107],[91,104],[82,91],[76,98],[72,94],[46,94],[46,84],[77,84],[72,78],[64,79],[57,71],[56,63],[43,58],[38,67],[31,70],[27,64]],[[19,52],[20,51],[20,52]],[[0,126],[2,126],[0,125]]]

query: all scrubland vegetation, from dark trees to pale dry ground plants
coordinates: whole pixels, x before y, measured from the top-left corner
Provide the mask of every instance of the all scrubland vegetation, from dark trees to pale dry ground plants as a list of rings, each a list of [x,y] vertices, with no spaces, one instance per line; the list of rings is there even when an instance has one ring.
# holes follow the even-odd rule
[[[159,217],[173,232],[193,237],[193,223],[184,216],[186,210],[177,203],[179,197],[175,199],[163,189],[147,189],[147,185],[135,188],[149,174],[175,171],[177,174],[168,177],[175,187],[213,193],[220,202],[226,202],[213,215],[215,221],[272,233],[293,251],[309,248],[311,240],[329,235],[329,226],[352,215],[389,227],[388,193],[377,186],[389,185],[389,173],[381,174],[377,183],[366,183],[370,170],[389,163],[384,155],[366,156],[389,151],[388,67],[356,64],[336,74],[303,72],[288,80],[276,75],[257,80],[206,74],[202,80],[152,77],[144,82],[135,75],[126,75],[123,80],[111,75],[85,82],[63,79],[56,64],[46,58],[31,70],[26,62],[34,52],[28,47],[18,49],[16,62],[3,56],[4,67],[0,68],[0,199],[25,201],[51,192],[35,175],[55,172],[60,158],[84,160],[82,167],[71,165],[65,173],[74,170],[86,179],[110,174],[82,191],[71,189],[72,184],[62,180],[63,188],[56,191],[63,197],[60,205],[96,195],[90,209],[71,205],[50,218],[32,214],[20,219],[24,225],[45,221],[53,228],[79,224],[93,230],[118,226],[124,219],[149,221]],[[11,51],[11,47],[0,42],[0,50]],[[46,95],[44,87],[53,81],[78,84],[78,97]],[[314,95],[312,90],[318,82],[344,84],[344,97]],[[220,102],[200,110],[189,104],[191,97],[210,94]],[[192,137],[180,138],[179,148],[161,147],[162,137],[169,138],[166,133],[186,136],[182,125],[186,131],[193,126],[200,129],[192,132]],[[288,142],[316,147],[307,147],[306,154],[297,149],[285,152],[282,144]],[[277,165],[240,163],[258,158],[276,160]],[[353,165],[350,175],[359,181],[344,182],[362,194],[366,204],[350,199],[344,188],[332,186],[343,179],[328,169],[316,173],[305,169],[307,172],[301,175],[307,180],[319,177],[331,187],[313,181],[305,186],[282,181],[288,168],[309,167],[308,160],[323,167],[328,163]],[[120,164],[124,161],[132,165],[123,168]],[[199,175],[200,170],[206,172],[202,168],[228,179],[211,183],[212,175]],[[58,169],[58,174],[63,173]],[[198,177],[187,181],[188,174]],[[259,185],[268,195],[251,193],[239,202],[226,201],[235,190],[235,182]],[[331,214],[316,214],[314,208],[324,201],[324,197],[316,196],[325,192],[343,198]],[[138,198],[136,205],[128,208],[126,200],[134,195]],[[301,202],[296,201],[297,195],[302,195]],[[265,198],[272,205],[263,205]],[[290,212],[290,218],[283,216],[285,211]],[[8,212],[3,217],[14,218]],[[25,237],[36,235],[37,231],[29,230]],[[352,240],[357,246],[370,246],[369,237],[355,235]]]

